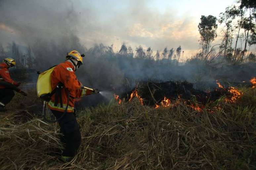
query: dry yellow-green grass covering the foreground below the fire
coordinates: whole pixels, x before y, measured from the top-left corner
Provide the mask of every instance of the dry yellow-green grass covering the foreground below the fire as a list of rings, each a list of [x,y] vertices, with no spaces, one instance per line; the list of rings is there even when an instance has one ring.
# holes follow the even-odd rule
[[[202,112],[183,103],[154,109],[137,99],[81,110],[82,144],[69,163],[58,161],[56,124],[36,117],[18,122],[17,111],[2,114],[0,168],[255,169],[256,90],[243,91],[237,103],[220,100],[221,109]]]

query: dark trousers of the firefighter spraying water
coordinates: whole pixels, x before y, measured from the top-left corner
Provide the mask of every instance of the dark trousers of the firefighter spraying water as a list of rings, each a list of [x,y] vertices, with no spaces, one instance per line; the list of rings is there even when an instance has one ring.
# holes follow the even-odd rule
[[[56,119],[59,119],[63,112],[51,110]],[[65,116],[58,121],[61,127],[61,142],[65,144],[63,156],[75,156],[81,144],[81,133],[74,113],[65,113]]]

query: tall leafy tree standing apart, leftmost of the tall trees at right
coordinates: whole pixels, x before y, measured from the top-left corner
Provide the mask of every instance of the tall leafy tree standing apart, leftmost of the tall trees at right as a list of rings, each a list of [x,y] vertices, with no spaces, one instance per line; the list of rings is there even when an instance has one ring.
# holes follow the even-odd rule
[[[213,40],[217,37],[216,24],[217,18],[212,15],[201,16],[201,22],[198,24],[198,30],[201,35],[200,45],[202,47],[202,54],[207,54]]]

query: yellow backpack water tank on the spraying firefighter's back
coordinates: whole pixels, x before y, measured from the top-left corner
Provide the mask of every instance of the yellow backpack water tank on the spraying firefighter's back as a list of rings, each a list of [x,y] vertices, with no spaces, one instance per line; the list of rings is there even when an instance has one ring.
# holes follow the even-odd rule
[[[39,73],[36,83],[36,91],[38,97],[52,92],[53,89],[51,85],[51,74],[54,68],[55,66],[47,71]]]

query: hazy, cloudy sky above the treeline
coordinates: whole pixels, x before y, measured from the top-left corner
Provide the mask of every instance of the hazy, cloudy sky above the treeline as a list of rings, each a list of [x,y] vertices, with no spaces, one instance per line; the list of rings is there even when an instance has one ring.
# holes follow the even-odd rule
[[[0,43],[31,45],[37,40],[74,39],[87,49],[95,43],[162,51],[181,45],[186,57],[199,49],[201,15],[219,16],[235,0],[1,0]],[[221,28],[218,37],[221,40]],[[74,41],[72,40],[72,41]],[[63,43],[63,42],[62,42]]]

